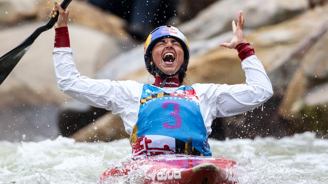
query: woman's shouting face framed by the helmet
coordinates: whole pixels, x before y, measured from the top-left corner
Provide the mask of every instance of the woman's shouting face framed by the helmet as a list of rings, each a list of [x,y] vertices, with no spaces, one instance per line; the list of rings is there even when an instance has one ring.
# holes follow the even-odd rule
[[[176,39],[163,38],[154,45],[152,59],[160,71],[172,75],[180,69],[184,61],[184,51]],[[178,74],[175,77],[178,77]]]

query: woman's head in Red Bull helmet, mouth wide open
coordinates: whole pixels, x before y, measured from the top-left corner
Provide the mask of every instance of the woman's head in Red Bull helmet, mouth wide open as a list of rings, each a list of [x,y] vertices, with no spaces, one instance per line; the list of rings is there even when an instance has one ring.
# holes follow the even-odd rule
[[[189,63],[188,39],[176,27],[160,26],[145,42],[144,59],[148,72],[154,77],[178,77],[182,83]]]

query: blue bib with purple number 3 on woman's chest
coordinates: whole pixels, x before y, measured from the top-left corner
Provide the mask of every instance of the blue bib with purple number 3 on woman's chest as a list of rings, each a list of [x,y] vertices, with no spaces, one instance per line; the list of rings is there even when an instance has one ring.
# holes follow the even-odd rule
[[[211,156],[198,97],[191,86],[166,94],[158,87],[144,85],[136,129],[137,138],[160,135],[158,137],[167,136],[184,143],[189,139],[193,149]]]

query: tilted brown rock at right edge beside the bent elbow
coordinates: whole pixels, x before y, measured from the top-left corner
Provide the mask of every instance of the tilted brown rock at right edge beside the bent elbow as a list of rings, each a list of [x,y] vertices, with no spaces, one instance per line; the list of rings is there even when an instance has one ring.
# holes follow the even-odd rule
[[[325,67],[328,66],[328,57],[325,56],[327,54],[320,49],[327,41],[324,39],[326,35],[328,35],[328,20],[323,23],[321,28],[314,30],[301,41],[293,52],[288,54],[288,57],[283,57],[284,61],[277,62],[281,63],[280,66],[270,73],[271,77],[276,79],[275,82],[272,82],[277,91],[276,96],[283,97],[279,108],[280,115],[291,118],[295,113],[298,113],[292,110],[293,103],[301,98],[308,88],[315,83],[322,82],[322,79],[311,82],[306,76],[310,74],[306,73],[311,73],[310,78],[315,79],[317,71],[321,71],[321,73],[324,70],[328,71],[328,68]],[[313,60],[316,57],[318,60]],[[320,76],[324,79],[324,76]]]

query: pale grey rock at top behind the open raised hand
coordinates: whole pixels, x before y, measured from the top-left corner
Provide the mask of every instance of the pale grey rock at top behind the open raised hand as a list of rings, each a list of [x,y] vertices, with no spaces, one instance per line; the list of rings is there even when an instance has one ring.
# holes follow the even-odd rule
[[[244,28],[247,30],[277,24],[303,13],[307,8],[306,0],[221,0],[179,28],[190,40],[207,39],[230,31],[231,21],[237,20],[239,10],[243,10],[246,20]]]

